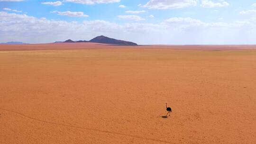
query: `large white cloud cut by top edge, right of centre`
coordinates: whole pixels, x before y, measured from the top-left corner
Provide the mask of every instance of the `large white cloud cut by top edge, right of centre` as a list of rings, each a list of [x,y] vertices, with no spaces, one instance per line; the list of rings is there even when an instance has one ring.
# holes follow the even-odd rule
[[[177,9],[195,6],[198,0],[150,0],[143,7],[148,9]]]

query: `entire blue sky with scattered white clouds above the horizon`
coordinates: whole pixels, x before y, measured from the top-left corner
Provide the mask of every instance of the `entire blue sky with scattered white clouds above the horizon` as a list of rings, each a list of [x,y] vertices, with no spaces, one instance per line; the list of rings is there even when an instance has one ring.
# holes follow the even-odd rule
[[[256,44],[256,0],[0,0],[0,43]]]

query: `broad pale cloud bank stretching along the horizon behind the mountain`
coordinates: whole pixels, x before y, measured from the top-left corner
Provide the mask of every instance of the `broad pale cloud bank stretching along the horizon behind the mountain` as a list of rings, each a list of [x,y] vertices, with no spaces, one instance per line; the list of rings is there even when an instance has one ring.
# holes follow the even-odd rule
[[[49,43],[66,39],[90,40],[100,35],[138,44],[255,44],[256,39],[256,18],[231,23],[169,18],[156,24],[117,24],[104,20],[82,23],[49,20],[1,11],[0,27],[1,42]]]

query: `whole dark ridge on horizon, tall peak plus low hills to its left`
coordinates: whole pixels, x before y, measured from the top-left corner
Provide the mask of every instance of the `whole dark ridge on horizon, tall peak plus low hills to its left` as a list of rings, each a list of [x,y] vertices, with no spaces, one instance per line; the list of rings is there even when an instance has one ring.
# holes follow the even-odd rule
[[[112,44],[112,45],[137,45],[136,43],[133,43],[133,42],[118,40],[118,39],[110,38],[107,36],[97,36],[97,37],[91,39],[90,41],[86,41],[86,40],[73,41],[71,39],[68,39],[68,40],[64,41],[63,43],[86,43],[86,42]]]

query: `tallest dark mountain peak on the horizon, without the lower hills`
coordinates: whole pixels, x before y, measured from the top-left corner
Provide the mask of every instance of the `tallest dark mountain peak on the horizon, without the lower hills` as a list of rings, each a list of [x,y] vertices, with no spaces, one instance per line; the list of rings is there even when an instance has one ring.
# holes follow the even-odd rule
[[[109,38],[107,36],[97,36],[91,39],[89,42],[102,43],[102,44],[114,44],[114,45],[137,45],[136,43],[133,43],[133,42],[117,40],[114,38]]]

